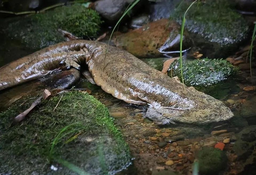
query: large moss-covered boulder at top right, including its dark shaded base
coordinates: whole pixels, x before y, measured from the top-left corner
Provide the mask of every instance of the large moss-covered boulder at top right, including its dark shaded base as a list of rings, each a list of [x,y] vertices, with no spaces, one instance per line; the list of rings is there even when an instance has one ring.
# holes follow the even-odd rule
[[[182,17],[191,1],[181,3],[172,18],[181,24]],[[206,57],[224,57],[244,41],[249,26],[242,15],[234,9],[234,3],[226,0],[200,1],[186,14],[185,28],[198,34],[195,42],[201,44]]]

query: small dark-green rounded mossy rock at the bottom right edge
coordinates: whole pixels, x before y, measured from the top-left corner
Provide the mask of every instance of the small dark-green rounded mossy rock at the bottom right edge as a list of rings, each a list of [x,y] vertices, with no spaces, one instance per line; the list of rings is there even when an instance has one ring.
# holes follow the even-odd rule
[[[227,164],[225,152],[213,147],[200,150],[197,158],[200,174],[218,174],[219,171],[225,169]]]

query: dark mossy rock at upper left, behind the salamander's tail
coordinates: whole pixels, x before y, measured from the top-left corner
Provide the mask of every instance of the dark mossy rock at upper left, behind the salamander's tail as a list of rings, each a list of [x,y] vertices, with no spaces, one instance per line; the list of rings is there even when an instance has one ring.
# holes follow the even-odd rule
[[[1,32],[21,40],[27,47],[40,49],[64,41],[58,29],[78,37],[95,37],[101,19],[98,13],[80,4],[57,7],[44,13],[7,19]]]

